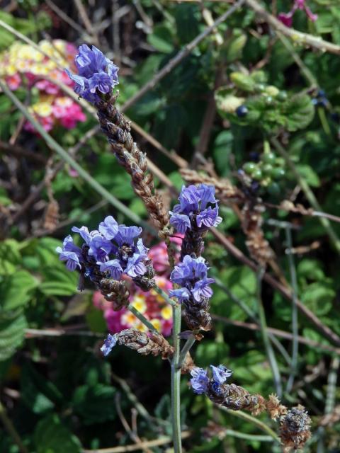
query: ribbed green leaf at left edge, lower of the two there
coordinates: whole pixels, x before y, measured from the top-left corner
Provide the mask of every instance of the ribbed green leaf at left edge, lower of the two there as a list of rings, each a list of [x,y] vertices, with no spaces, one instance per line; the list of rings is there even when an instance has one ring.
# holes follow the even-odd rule
[[[21,346],[27,328],[23,314],[9,315],[0,313],[0,361],[11,357]]]

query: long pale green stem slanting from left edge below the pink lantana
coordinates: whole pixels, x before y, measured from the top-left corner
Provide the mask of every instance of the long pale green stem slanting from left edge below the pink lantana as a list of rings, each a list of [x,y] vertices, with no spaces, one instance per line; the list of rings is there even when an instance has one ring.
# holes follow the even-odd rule
[[[59,156],[65,162],[67,162],[67,164],[72,166],[72,168],[74,168],[74,170],[76,170],[79,173],[79,176],[81,176],[81,178],[86,180],[86,182],[89,183],[89,185],[91,185],[91,187],[94,190],[96,190],[97,193],[102,195],[103,198],[105,198],[105,200],[107,200],[109,203],[111,203],[111,205],[113,205],[117,210],[119,210],[120,212],[123,212],[123,214],[125,214],[126,217],[128,217],[130,220],[132,220],[132,222],[135,222],[137,224],[142,224],[142,226],[144,226],[147,229],[151,228],[149,226],[149,224],[147,224],[147,222],[144,222],[137,214],[135,214],[135,212],[132,212],[128,207],[123,205],[122,202],[117,200],[117,198],[115,198],[113,195],[111,195],[111,193],[109,193],[108,190],[103,188],[103,186],[101,184],[99,184],[94,178],[92,178],[92,176],[89,173],[87,173],[87,171],[84,170],[84,168],[82,168],[77,163],[77,161],[75,161],[72,158],[72,156],[70,156],[67,153],[67,151],[65,151],[60,146],[60,144],[57,143],[55,141],[55,139],[53,139],[50,136],[50,134],[48,134],[45,131],[45,129],[42,127],[42,125],[40,125],[40,123],[37,120],[35,120],[35,118],[28,112],[25,105],[23,105],[23,103],[21,103],[21,101],[18,100],[18,98],[15,96],[15,94],[13,94],[11,92],[11,90],[9,90],[9,88],[6,86],[6,84],[4,84],[4,81],[2,81],[1,79],[0,79],[0,88],[2,91],[4,91],[6,96],[8,96],[8,98],[11,99],[11,101],[21,111],[21,113],[23,113],[23,115],[26,117],[26,119],[35,127],[35,129],[39,132],[39,134],[42,136],[42,138],[45,139],[45,142],[47,143],[48,147],[50,147],[50,149],[52,149],[57,154],[59,154]]]

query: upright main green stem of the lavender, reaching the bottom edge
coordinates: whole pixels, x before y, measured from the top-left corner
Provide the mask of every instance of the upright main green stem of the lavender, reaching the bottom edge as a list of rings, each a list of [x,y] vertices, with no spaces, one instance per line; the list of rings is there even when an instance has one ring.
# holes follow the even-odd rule
[[[181,367],[179,367],[181,306],[172,307],[174,355],[171,360],[171,421],[174,452],[182,452],[181,442]]]

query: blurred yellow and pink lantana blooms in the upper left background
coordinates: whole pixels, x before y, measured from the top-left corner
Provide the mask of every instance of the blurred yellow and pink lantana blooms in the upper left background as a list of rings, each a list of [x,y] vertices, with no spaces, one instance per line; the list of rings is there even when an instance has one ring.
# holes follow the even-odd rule
[[[77,48],[63,40],[42,40],[38,47],[56,62],[31,45],[14,42],[0,54],[0,76],[12,91],[21,86],[35,88],[38,99],[33,93],[35,101],[29,110],[45,130],[50,131],[57,125],[73,129],[78,122],[86,120],[86,115],[79,104],[65,96],[53,81],[71,88],[74,86],[62,68],[74,67]],[[26,122],[24,127],[29,132],[35,132],[30,122]]]

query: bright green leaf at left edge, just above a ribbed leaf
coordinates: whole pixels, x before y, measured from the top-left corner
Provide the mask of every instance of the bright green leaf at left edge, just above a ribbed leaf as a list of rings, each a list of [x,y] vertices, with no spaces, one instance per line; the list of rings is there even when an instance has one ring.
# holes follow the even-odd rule
[[[18,270],[12,275],[4,275],[0,280],[0,307],[14,310],[27,304],[38,280],[26,270]]]

